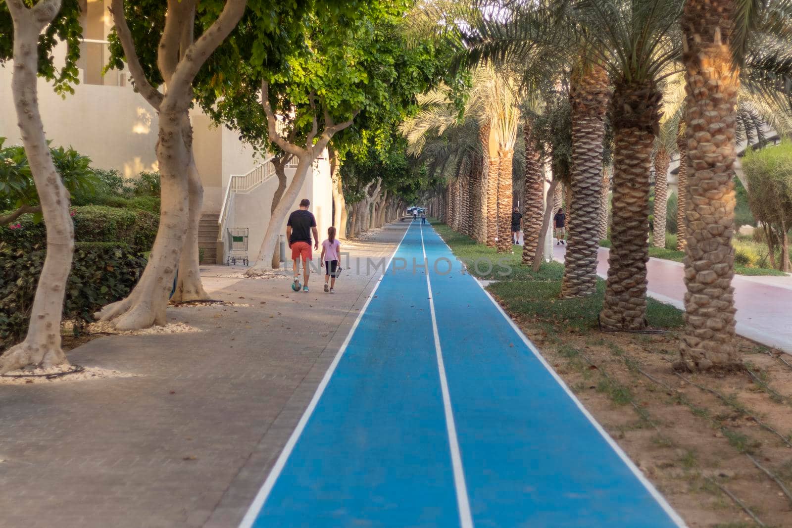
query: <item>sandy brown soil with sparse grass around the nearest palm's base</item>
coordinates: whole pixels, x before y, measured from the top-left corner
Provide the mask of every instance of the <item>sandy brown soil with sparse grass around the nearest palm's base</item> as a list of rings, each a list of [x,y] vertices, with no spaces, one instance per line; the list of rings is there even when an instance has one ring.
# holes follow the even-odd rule
[[[677,374],[673,332],[515,320],[688,526],[758,526],[723,488],[767,526],[792,526],[792,356],[740,339],[746,370]]]

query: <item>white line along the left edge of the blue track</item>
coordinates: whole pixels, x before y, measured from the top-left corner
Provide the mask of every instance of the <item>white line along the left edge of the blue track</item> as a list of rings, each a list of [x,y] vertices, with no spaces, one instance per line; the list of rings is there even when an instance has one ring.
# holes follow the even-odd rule
[[[390,259],[388,259],[387,264],[385,264],[385,270],[383,271],[382,275],[379,275],[379,279],[377,279],[377,283],[374,286],[374,289],[371,290],[371,293],[368,294],[368,298],[366,299],[366,303],[363,306],[363,309],[360,310],[360,313],[357,314],[357,318],[355,322],[352,324],[352,328],[349,329],[349,333],[344,340],[344,343],[341,344],[341,348],[338,349],[336,352],[336,357],[333,358],[333,363],[330,363],[325,376],[322,378],[322,382],[319,383],[319,386],[316,388],[316,392],[314,393],[314,397],[311,398],[308,407],[303,412],[303,416],[300,417],[299,422],[297,423],[297,427],[295,430],[292,431],[291,436],[289,437],[286,445],[284,446],[284,450],[280,452],[280,456],[275,462],[275,465],[272,466],[267,479],[264,481],[264,484],[261,484],[261,489],[258,490],[256,498],[253,499],[253,503],[250,504],[245,517],[242,518],[242,522],[239,523],[239,528],[251,528],[253,526],[253,522],[256,522],[256,518],[258,517],[259,513],[261,512],[261,508],[264,507],[264,503],[267,501],[267,497],[269,493],[272,492],[272,488],[275,487],[275,483],[280,477],[280,473],[284,470],[284,466],[286,465],[289,456],[291,456],[291,451],[294,450],[297,441],[299,440],[300,435],[303,434],[303,430],[305,429],[308,420],[310,419],[310,415],[313,414],[314,408],[319,402],[319,399],[322,398],[322,393],[325,392],[327,384],[330,381],[330,378],[333,376],[333,372],[336,370],[338,366],[338,362],[341,361],[341,356],[344,355],[346,348],[349,344],[349,341],[352,340],[352,335],[355,333],[357,326],[360,325],[360,320],[363,318],[363,314],[366,313],[368,305],[371,303],[371,299],[374,298],[374,294],[377,293],[377,288],[383,282],[383,277],[388,272],[388,268],[390,268],[390,262],[394,260],[394,256],[398,249],[402,246],[402,242],[404,238],[407,236],[407,232],[409,231],[409,227],[404,231],[402,235],[402,240],[399,241],[396,249],[394,249],[394,253],[390,255]]]

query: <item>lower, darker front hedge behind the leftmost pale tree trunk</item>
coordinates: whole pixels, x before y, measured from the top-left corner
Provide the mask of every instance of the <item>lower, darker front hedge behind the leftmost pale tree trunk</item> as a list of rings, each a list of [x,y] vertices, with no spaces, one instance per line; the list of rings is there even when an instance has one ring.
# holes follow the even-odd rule
[[[0,242],[0,351],[25,338],[45,254],[43,245]],[[75,243],[63,303],[63,317],[74,321],[75,334],[102,306],[124,298],[145,267],[146,259],[129,245]]]

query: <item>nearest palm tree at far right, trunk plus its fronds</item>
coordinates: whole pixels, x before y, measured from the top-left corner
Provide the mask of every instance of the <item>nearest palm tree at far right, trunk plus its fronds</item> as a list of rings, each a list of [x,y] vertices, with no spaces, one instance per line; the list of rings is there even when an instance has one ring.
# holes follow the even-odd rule
[[[685,329],[680,367],[741,363],[734,341],[734,183],[737,97],[742,80],[773,98],[792,86],[790,2],[686,0],[687,82]],[[763,9],[764,8],[764,9]],[[695,205],[695,207],[693,207]]]

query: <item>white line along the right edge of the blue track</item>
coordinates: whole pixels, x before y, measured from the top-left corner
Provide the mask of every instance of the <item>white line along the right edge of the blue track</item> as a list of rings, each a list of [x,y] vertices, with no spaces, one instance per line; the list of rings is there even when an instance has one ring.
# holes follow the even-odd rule
[[[423,236],[424,234],[423,232],[421,232],[421,241],[423,241]],[[447,242],[443,240],[443,237],[440,237],[440,234],[437,234],[437,237],[440,238],[440,241],[442,241],[445,244],[445,246],[448,248],[448,251],[450,251],[451,254],[453,255],[454,251],[451,249],[451,246],[448,245]],[[473,282],[478,284],[478,287],[482,289],[484,294],[489,298],[489,300],[493,303],[493,305],[495,305],[497,310],[501,312],[501,315],[512,327],[512,330],[514,330],[517,336],[520,336],[520,339],[523,340],[528,350],[530,350],[531,353],[535,355],[536,359],[539,359],[539,363],[542,363],[542,366],[545,367],[545,369],[548,372],[550,372],[550,375],[553,376],[553,379],[558,383],[558,385],[562,387],[562,389],[564,389],[566,395],[572,398],[572,401],[575,402],[575,405],[577,405],[577,408],[580,409],[580,411],[583,413],[583,416],[585,416],[588,419],[588,421],[591,422],[591,424],[594,426],[596,431],[599,432],[600,435],[605,439],[605,442],[607,442],[607,444],[611,446],[611,449],[614,450],[616,454],[619,456],[619,458],[622,459],[622,462],[624,462],[627,465],[627,467],[630,468],[630,471],[632,471],[635,477],[638,478],[638,481],[640,481],[641,484],[643,484],[644,488],[646,488],[646,491],[649,492],[649,495],[651,495],[654,500],[657,500],[657,503],[660,504],[660,506],[663,508],[665,513],[668,514],[668,516],[672,519],[672,521],[676,523],[676,526],[679,526],[680,528],[687,528],[687,524],[685,524],[685,522],[680,517],[680,515],[676,513],[676,511],[674,511],[674,508],[671,506],[671,504],[668,503],[668,500],[665,500],[665,497],[662,496],[661,493],[657,491],[657,488],[655,488],[653,484],[649,482],[649,480],[644,476],[644,474],[641,473],[641,470],[638,469],[636,465],[634,465],[633,461],[630,460],[630,457],[628,457],[626,453],[622,450],[622,448],[619,447],[619,444],[617,444],[615,440],[611,438],[611,435],[607,434],[607,431],[605,431],[604,428],[600,425],[600,423],[596,421],[594,416],[592,416],[592,414],[588,412],[588,409],[586,409],[584,405],[581,403],[581,401],[577,399],[577,396],[575,396],[575,394],[571,390],[569,390],[569,387],[566,386],[564,380],[562,380],[562,378],[556,373],[556,371],[553,370],[553,367],[550,367],[550,363],[546,362],[543,355],[540,354],[539,350],[535,347],[535,345],[531,343],[531,340],[529,340],[527,336],[523,333],[523,331],[520,330],[520,327],[517,326],[514,321],[512,321],[512,317],[508,317],[508,313],[506,313],[505,310],[503,310],[503,308],[501,307],[501,305],[497,303],[495,298],[493,298],[493,296],[489,294],[489,291],[486,291],[484,285],[480,283],[478,279],[476,279],[475,277],[472,278],[473,278]]]

